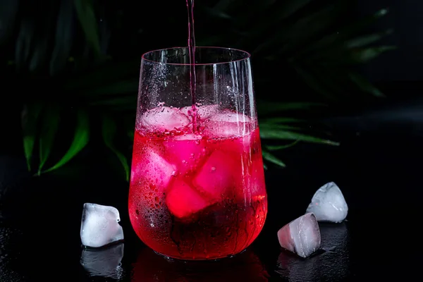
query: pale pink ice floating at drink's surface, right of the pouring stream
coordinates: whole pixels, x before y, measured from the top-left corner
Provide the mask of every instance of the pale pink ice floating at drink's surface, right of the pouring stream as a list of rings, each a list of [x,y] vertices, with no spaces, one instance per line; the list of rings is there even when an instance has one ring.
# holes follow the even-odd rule
[[[220,111],[210,117],[204,133],[216,137],[235,137],[249,134],[252,130],[251,118],[230,110]]]

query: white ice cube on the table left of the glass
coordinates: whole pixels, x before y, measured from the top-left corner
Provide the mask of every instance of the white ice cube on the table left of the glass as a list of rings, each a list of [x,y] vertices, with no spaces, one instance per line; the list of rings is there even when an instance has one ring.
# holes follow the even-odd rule
[[[87,247],[103,247],[123,240],[121,217],[115,207],[85,203],[82,210],[81,242]]]

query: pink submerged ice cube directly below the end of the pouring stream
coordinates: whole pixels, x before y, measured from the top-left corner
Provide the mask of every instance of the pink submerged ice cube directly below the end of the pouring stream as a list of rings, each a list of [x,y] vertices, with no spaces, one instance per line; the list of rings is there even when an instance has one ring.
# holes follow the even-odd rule
[[[163,144],[166,156],[178,167],[178,173],[195,170],[207,152],[206,141],[193,133],[169,138]]]

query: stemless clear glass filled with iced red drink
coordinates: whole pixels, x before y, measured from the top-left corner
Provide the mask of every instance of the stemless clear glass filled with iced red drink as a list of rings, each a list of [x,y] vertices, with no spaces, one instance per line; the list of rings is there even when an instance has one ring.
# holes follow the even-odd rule
[[[129,215],[155,252],[185,260],[245,250],[267,214],[250,54],[197,47],[142,56]],[[195,106],[190,67],[197,78]]]

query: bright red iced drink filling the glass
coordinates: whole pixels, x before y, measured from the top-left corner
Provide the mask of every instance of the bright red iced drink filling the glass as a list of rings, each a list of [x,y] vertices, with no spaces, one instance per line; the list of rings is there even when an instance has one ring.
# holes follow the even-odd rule
[[[178,259],[218,259],[248,247],[267,214],[257,120],[216,105],[159,107],[138,118],[129,214],[138,237]]]

